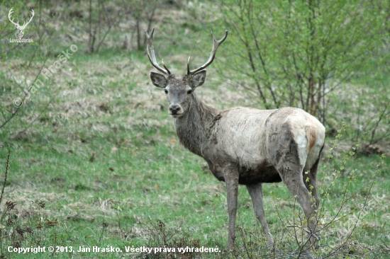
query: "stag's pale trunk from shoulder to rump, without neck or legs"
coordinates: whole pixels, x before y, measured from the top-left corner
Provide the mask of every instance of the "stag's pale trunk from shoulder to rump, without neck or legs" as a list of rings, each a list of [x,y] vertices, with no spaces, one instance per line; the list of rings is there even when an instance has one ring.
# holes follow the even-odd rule
[[[278,183],[276,167],[289,157],[299,160],[303,171],[313,167],[323,147],[322,127],[298,108],[231,108],[216,117],[199,155],[218,180],[225,180],[221,167],[232,163],[241,185]]]

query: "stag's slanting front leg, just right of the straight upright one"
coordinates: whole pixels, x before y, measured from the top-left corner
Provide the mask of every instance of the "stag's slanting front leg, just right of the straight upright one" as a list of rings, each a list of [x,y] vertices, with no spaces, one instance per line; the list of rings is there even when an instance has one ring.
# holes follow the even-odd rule
[[[262,183],[256,183],[254,185],[246,185],[246,187],[250,197],[252,198],[253,209],[255,209],[256,217],[262,224],[262,229],[267,238],[267,246],[271,248],[274,246],[274,238],[269,232],[267,221],[265,220],[265,213],[264,213],[263,199],[262,199]]]

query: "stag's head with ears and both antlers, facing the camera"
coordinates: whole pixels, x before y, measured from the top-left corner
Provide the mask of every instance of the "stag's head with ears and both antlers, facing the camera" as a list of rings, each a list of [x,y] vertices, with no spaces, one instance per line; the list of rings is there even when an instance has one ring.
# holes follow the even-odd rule
[[[225,35],[221,40],[216,40],[214,38],[213,32],[210,30],[211,37],[213,38],[213,49],[211,50],[210,57],[208,61],[201,67],[189,70],[189,59],[187,62],[187,73],[182,78],[177,78],[172,74],[169,69],[165,66],[162,60],[162,67],[157,64],[155,57],[155,49],[153,47],[153,33],[155,28],[152,29],[152,32],[149,34],[146,33],[146,38],[148,41],[147,45],[147,57],[149,57],[150,63],[162,74],[155,73],[150,71],[150,79],[152,79],[152,84],[159,88],[164,88],[165,94],[167,95],[167,100],[169,103],[169,115],[173,117],[182,117],[189,110],[191,98],[194,98],[193,92],[196,87],[199,87],[204,84],[206,79],[206,67],[208,67],[216,57],[216,51],[218,46],[228,37],[228,30],[225,31]]]

